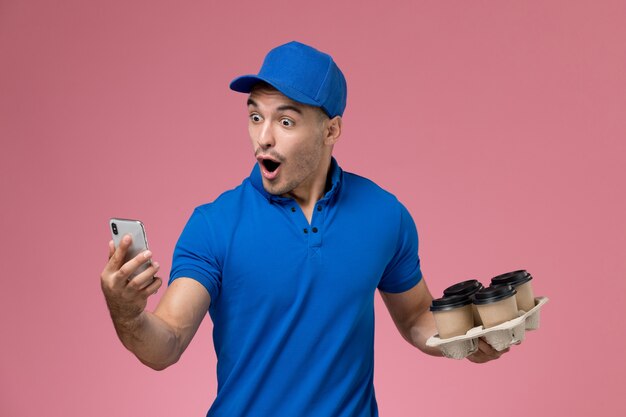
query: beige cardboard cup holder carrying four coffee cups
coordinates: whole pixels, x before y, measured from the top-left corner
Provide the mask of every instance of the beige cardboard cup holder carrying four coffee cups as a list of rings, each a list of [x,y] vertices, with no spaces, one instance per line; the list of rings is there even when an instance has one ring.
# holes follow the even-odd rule
[[[522,343],[526,330],[539,328],[541,307],[548,302],[548,297],[535,297],[535,307],[529,311],[519,311],[519,316],[494,327],[485,329],[476,326],[461,336],[441,339],[434,335],[426,341],[426,346],[438,347],[443,356],[452,359],[463,359],[478,349],[478,339],[483,338],[495,350],[502,351],[511,345]]]

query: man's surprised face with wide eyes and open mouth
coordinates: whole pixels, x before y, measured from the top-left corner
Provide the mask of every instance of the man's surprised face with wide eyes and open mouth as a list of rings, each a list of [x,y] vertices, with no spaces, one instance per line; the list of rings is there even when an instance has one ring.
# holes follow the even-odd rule
[[[263,187],[282,196],[307,196],[324,181],[332,145],[325,143],[328,118],[277,90],[255,88],[248,98],[248,131]]]

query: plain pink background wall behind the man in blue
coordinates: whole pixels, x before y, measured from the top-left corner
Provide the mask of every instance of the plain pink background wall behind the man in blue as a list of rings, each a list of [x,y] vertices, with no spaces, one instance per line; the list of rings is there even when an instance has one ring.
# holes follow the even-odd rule
[[[0,0],[0,414],[206,413],[210,320],[164,372],[125,351],[107,220],[141,218],[167,276],[254,162],[228,82],[297,39],[344,70],[336,156],[409,208],[432,292],[525,268],[551,299],[477,366],[420,354],[377,295],[381,415],[625,415],[625,4]]]

